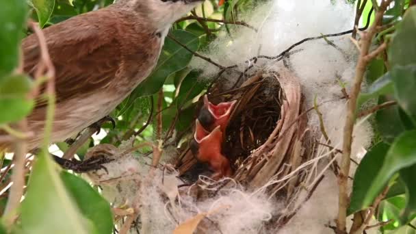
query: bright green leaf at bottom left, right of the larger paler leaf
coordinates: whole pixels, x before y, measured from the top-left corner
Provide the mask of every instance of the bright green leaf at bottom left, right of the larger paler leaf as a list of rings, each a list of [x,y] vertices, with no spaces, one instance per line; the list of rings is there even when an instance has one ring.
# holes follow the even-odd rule
[[[98,233],[112,233],[112,211],[107,200],[74,174],[61,172],[61,179],[83,215],[94,223]]]

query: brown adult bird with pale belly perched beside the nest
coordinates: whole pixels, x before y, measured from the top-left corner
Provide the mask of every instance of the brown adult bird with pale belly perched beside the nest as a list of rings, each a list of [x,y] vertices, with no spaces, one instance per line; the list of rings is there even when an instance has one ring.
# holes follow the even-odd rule
[[[55,66],[56,108],[51,139],[62,142],[92,125],[151,73],[174,21],[203,0],[119,0],[107,8],[43,29]],[[24,70],[40,59],[36,35],[22,43]],[[47,103],[27,117],[30,149],[42,142]],[[3,145],[4,148],[10,148]]]

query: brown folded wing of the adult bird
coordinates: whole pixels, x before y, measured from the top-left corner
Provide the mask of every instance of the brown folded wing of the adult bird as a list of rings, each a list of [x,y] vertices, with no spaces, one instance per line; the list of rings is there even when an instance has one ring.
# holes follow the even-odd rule
[[[42,30],[56,70],[58,103],[105,88],[116,75],[121,63],[116,18],[103,14],[105,10],[76,16]],[[22,48],[25,72],[33,74],[40,55],[36,35],[25,38]],[[43,105],[42,99],[36,103],[36,107]]]

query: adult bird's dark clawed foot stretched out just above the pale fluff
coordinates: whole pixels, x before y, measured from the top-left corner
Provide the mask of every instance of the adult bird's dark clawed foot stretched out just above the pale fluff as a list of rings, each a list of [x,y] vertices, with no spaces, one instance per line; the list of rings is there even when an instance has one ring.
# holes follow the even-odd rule
[[[53,156],[57,164],[60,164],[62,168],[66,170],[73,170],[77,173],[85,173],[93,170],[103,169],[108,174],[107,168],[103,164],[107,164],[114,159],[109,159],[104,155],[97,155],[90,157],[84,161],[78,161],[77,159],[63,159],[62,157]]]

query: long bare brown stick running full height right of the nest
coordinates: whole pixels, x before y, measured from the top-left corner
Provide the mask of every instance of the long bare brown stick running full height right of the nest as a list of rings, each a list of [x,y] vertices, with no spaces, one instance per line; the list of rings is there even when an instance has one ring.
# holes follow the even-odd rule
[[[350,100],[348,101],[348,110],[346,116],[346,123],[343,130],[343,154],[341,158],[341,170],[339,172],[339,201],[338,201],[338,218],[337,228],[340,232],[346,232],[346,218],[348,208],[348,174],[350,172],[350,155],[351,155],[351,144],[352,144],[352,131],[354,129],[355,122],[355,110],[356,110],[356,99],[361,90],[361,83],[365,73],[365,68],[372,56],[369,56],[369,48],[372,44],[372,38],[376,34],[377,26],[380,25],[382,16],[387,9],[387,6],[392,0],[382,1],[378,12],[376,12],[376,18],[368,31],[362,33],[361,47],[359,61],[355,69],[354,84],[350,92]],[[374,56],[375,57],[375,56]]]

